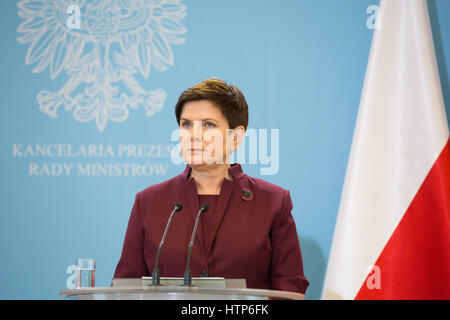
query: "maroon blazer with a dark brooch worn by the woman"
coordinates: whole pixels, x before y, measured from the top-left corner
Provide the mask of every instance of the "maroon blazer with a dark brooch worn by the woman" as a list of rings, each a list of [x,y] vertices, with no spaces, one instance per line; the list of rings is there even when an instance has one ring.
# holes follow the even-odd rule
[[[151,276],[175,203],[182,203],[183,209],[173,217],[159,269],[161,277],[183,277],[199,210],[195,181],[189,173],[187,165],[178,176],[136,195],[114,278]],[[305,293],[309,282],[303,274],[289,191],[247,176],[240,164],[233,164],[229,173],[233,180],[222,182],[209,243],[204,242],[200,222],[192,250],[192,276],[245,278],[248,288]]]

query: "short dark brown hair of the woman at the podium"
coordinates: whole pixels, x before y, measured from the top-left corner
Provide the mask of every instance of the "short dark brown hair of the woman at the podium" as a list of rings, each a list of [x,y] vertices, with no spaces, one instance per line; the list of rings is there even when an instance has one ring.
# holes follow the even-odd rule
[[[225,81],[211,78],[204,80],[183,91],[175,105],[178,125],[183,106],[186,102],[208,100],[213,102],[225,116],[231,129],[248,125],[248,105],[244,94],[238,87],[228,85]]]

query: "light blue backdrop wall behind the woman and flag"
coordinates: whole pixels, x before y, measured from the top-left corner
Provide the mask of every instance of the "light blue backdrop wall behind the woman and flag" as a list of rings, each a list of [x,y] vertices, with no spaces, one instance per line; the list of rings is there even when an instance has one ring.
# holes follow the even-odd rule
[[[110,284],[135,194],[184,169],[174,104],[209,77],[279,129],[278,172],[243,167],[291,191],[320,298],[378,1],[148,2],[1,2],[0,298],[60,298],[80,257]],[[450,2],[429,9],[450,114]]]

